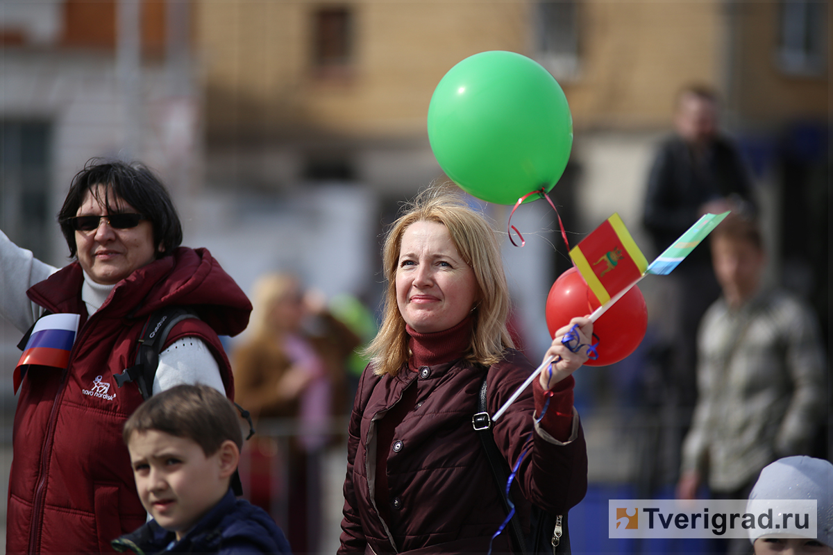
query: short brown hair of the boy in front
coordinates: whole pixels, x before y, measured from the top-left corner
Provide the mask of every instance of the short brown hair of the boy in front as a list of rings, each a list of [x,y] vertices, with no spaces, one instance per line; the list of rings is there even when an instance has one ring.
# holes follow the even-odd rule
[[[210,457],[224,441],[243,447],[243,434],[231,401],[207,385],[177,385],[153,395],[139,405],[124,423],[122,439],[128,444],[134,433],[157,430],[177,438],[192,439]]]

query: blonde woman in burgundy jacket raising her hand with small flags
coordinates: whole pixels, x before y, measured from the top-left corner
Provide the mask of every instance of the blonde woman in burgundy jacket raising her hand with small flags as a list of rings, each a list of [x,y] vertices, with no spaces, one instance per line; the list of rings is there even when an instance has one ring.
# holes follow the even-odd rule
[[[382,255],[384,317],[349,424],[338,553],[486,553],[506,518],[505,493],[472,417],[484,379],[491,415],[535,367],[506,329],[509,290],[486,219],[441,186],[406,210]],[[593,326],[571,324],[575,352],[561,342],[566,326],[546,352],[556,362],[491,427],[499,456],[517,466],[513,501],[525,530],[531,503],[566,516],[586,493],[572,372],[587,359]],[[493,553],[510,552],[508,535]]]

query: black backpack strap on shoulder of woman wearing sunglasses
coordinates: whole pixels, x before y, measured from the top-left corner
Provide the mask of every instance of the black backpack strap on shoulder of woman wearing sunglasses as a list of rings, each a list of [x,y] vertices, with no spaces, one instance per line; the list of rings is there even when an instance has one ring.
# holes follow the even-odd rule
[[[142,328],[142,335],[138,339],[136,364],[113,376],[116,385],[122,387],[127,382],[135,382],[142,393],[142,399],[149,399],[153,394],[153,379],[156,378],[159,366],[159,353],[165,345],[167,335],[171,333],[174,325],[188,318],[198,319],[199,316],[183,306],[167,306],[148,316]]]

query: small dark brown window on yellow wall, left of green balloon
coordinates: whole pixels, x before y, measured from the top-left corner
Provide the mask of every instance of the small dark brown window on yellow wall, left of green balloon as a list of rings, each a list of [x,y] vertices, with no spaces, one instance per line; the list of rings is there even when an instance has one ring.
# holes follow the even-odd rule
[[[353,17],[348,7],[321,7],[313,22],[313,65],[318,72],[343,74],[352,65]]]

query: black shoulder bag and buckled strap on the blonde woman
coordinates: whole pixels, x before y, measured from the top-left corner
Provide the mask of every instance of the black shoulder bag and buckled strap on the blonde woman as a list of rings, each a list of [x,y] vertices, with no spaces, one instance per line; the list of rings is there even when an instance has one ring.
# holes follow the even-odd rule
[[[486,406],[486,375],[486,373],[483,374],[480,395],[477,399],[477,410],[479,412],[471,418],[471,425],[477,435],[480,436],[483,451],[486,453],[491,473],[500,492],[499,497],[503,508],[506,514],[509,514],[511,507],[509,506],[509,498],[506,497],[506,482],[509,479],[508,465],[497,448],[495,437],[491,433],[491,417]],[[528,536],[523,533],[521,519],[517,513],[510,519],[506,528],[509,529],[509,537],[515,553],[521,555],[527,555],[528,553],[551,553],[552,555],[570,553],[566,514],[551,515],[533,503]]]

